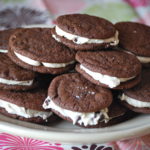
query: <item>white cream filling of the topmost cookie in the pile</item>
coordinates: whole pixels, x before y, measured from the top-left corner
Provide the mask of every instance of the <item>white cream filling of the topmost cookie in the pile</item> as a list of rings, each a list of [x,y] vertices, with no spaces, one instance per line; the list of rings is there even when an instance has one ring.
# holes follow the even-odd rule
[[[68,40],[72,40],[76,44],[110,43],[110,45],[117,45],[119,43],[119,39],[118,39],[119,33],[118,33],[118,31],[116,31],[116,33],[115,33],[115,35],[113,37],[108,38],[108,39],[89,39],[89,38],[86,38],[86,37],[81,37],[81,36],[78,36],[78,35],[67,33],[65,31],[63,31],[62,29],[60,29],[58,26],[55,27],[55,31],[56,31],[57,35],[63,36],[63,37],[65,37]]]

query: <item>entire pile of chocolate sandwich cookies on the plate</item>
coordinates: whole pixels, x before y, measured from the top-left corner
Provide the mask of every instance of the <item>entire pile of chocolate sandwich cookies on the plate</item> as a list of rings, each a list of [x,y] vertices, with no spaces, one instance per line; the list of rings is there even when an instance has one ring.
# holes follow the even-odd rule
[[[0,112],[86,128],[150,113],[150,27],[63,15],[54,28],[0,32]],[[53,113],[52,113],[53,112]]]

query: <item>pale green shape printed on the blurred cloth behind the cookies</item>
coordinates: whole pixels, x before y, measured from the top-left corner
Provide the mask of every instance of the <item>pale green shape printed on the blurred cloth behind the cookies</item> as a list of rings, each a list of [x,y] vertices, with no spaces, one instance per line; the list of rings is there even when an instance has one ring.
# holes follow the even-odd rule
[[[114,23],[118,21],[132,21],[138,18],[131,6],[123,2],[94,4],[84,9],[82,13],[103,17]]]

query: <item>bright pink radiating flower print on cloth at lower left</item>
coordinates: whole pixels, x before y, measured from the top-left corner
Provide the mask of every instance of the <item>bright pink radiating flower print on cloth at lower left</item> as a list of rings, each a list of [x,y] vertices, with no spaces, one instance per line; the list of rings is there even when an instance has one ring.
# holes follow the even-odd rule
[[[49,143],[30,138],[0,134],[0,149],[3,150],[64,150],[61,144]]]

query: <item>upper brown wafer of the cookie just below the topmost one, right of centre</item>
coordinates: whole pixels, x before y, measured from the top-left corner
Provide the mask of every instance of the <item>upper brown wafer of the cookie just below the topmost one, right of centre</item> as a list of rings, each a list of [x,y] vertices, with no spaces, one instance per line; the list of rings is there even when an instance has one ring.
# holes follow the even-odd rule
[[[76,60],[93,72],[112,77],[131,78],[141,72],[138,59],[122,51],[77,52]]]

